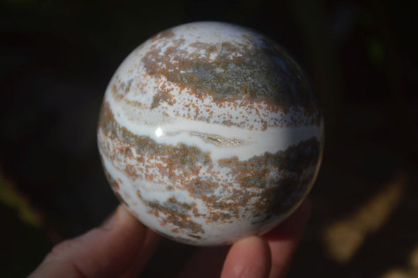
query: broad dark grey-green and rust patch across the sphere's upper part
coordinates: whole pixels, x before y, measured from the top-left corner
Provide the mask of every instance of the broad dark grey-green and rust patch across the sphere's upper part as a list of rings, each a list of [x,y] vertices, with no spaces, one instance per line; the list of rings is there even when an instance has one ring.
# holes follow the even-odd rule
[[[154,47],[142,59],[148,74],[163,75],[171,82],[192,88],[198,96],[210,93],[217,101],[247,96],[318,112],[318,102],[302,70],[268,39],[251,45],[196,42],[189,45],[196,49],[192,53],[180,49],[184,40],[166,43],[169,42],[172,46],[163,55],[160,47]],[[201,56],[201,50],[206,55]],[[215,60],[210,59],[213,54]]]

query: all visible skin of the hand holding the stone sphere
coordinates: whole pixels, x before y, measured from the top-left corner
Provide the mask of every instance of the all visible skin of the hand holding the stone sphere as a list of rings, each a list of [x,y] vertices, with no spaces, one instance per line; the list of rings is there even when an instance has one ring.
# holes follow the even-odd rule
[[[231,247],[201,248],[180,277],[284,277],[309,214],[307,200],[265,235],[242,239]],[[102,226],[56,245],[29,277],[138,277],[158,238],[119,206]]]

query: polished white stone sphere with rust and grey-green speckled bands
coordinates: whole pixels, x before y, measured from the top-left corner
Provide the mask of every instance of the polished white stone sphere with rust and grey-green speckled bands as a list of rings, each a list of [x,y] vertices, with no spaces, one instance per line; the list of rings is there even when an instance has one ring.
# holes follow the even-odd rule
[[[102,164],[150,229],[192,245],[265,233],[318,172],[323,116],[307,77],[251,29],[184,24],[134,49],[100,113]]]

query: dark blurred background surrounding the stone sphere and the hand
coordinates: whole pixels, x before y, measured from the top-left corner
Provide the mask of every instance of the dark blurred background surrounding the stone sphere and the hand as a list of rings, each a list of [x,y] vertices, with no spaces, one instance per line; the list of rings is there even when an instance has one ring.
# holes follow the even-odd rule
[[[288,277],[418,277],[417,15],[417,1],[2,0],[0,276],[28,275],[117,206],[95,129],[125,56],[163,29],[219,20],[288,49],[325,111]],[[144,276],[173,277],[194,251],[163,240]]]

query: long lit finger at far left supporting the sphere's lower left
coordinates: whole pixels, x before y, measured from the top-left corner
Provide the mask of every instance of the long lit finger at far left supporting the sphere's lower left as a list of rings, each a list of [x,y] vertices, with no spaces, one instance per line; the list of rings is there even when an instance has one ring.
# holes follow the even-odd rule
[[[56,245],[30,277],[118,277],[144,246],[146,227],[119,206],[101,227]]]

